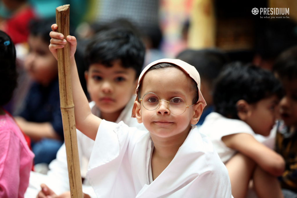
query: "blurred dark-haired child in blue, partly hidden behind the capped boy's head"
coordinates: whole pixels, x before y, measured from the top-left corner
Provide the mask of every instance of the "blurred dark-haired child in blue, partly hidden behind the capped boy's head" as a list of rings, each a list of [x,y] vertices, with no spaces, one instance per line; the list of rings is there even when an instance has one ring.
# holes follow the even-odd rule
[[[200,74],[201,93],[207,103],[197,123],[200,126],[203,124],[206,116],[214,110],[212,99],[214,80],[219,75],[221,68],[228,62],[228,56],[216,49],[187,49],[179,53],[176,58],[193,65]]]

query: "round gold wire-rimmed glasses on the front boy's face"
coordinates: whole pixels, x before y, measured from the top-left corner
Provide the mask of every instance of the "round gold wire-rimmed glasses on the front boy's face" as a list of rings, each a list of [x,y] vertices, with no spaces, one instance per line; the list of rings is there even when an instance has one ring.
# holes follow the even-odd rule
[[[139,102],[142,103],[142,106],[146,110],[150,110],[150,111],[157,109],[160,105],[160,101],[168,102],[168,109],[174,115],[181,115],[186,111],[187,108],[195,105],[195,104],[192,104],[188,106],[184,101],[184,99],[180,97],[174,97],[170,101],[160,100],[157,94],[152,92],[144,94],[144,96],[139,99]]]

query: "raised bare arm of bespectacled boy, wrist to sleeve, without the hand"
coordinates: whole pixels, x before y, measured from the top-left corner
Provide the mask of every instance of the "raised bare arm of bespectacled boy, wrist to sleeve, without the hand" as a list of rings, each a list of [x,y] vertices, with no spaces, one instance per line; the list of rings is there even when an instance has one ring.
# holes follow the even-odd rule
[[[88,99],[80,84],[74,58],[70,60],[70,69],[76,128],[95,140],[101,119],[91,113]]]

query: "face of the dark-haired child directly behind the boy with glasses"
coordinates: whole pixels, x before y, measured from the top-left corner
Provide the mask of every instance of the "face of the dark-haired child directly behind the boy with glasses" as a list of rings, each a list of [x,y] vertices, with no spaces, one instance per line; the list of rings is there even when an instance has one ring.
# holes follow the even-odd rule
[[[89,71],[85,72],[88,92],[91,100],[104,113],[121,111],[127,105],[138,80],[135,79],[136,71],[124,68],[121,61],[113,61],[111,67],[102,64],[91,64]]]

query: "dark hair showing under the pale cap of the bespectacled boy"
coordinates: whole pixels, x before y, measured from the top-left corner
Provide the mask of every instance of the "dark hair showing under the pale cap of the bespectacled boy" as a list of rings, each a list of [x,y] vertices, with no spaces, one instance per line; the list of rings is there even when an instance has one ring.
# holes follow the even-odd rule
[[[174,67],[174,68],[177,68],[177,69],[180,69],[181,70],[181,68],[179,67],[179,66],[177,66],[176,64],[171,64],[171,63],[158,63],[158,64],[156,64],[156,65],[154,65],[154,66],[151,66],[147,71],[146,71],[146,73],[147,72],[149,72],[149,71],[151,71],[151,70],[154,70],[154,69],[164,69],[164,68],[169,68],[169,67]],[[182,70],[181,70],[182,71]],[[182,71],[182,72],[184,72],[184,71]],[[191,78],[191,77],[189,77],[190,79],[191,79],[191,83],[192,83],[192,89],[193,90],[195,90],[195,96],[194,96],[194,98],[193,98],[193,100],[192,100],[192,104],[195,104],[197,101],[198,101],[198,99],[199,99],[199,92],[198,92],[198,87],[197,87],[197,83],[196,83],[196,81],[193,79],[193,78]],[[141,90],[141,87],[142,87],[142,81],[143,81],[143,79],[141,80],[141,83],[140,83],[140,86],[138,87],[138,94],[137,94],[137,97],[138,97],[138,101],[139,101],[139,99],[141,98],[141,96],[140,96],[140,90]]]

